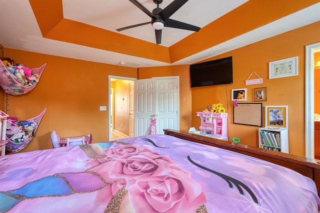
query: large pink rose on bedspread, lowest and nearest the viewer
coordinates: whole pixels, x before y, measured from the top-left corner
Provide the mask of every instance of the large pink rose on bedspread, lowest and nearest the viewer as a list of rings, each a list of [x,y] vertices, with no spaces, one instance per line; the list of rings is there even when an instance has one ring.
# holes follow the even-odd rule
[[[126,189],[136,212],[194,213],[206,197],[189,173],[174,169],[165,180],[128,180]]]

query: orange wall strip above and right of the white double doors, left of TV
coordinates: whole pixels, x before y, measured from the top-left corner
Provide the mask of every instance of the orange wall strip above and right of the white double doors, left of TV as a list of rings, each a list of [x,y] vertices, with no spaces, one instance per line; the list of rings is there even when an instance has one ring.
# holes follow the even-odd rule
[[[180,131],[187,131],[191,126],[191,89],[189,80],[189,65],[138,69],[138,79],[164,76],[179,76]]]

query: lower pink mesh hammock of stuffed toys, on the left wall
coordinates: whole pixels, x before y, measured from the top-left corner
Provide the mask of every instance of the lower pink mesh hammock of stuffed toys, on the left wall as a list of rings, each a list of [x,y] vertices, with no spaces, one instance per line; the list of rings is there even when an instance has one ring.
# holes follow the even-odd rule
[[[15,142],[11,141],[8,137],[6,137],[6,140],[8,140],[8,143],[5,146],[5,150],[9,151],[9,152],[16,153],[16,152],[19,152],[20,150],[22,150],[24,147],[26,147],[26,145],[28,145],[29,142],[32,140],[32,138],[35,134],[35,131],[37,130],[45,111],[46,111],[46,107],[38,116],[26,120],[27,122],[31,122],[34,120],[37,124],[31,134],[31,136],[28,139],[26,139],[25,141],[23,141],[21,143],[15,143]],[[9,125],[9,124],[7,124],[7,125]]]

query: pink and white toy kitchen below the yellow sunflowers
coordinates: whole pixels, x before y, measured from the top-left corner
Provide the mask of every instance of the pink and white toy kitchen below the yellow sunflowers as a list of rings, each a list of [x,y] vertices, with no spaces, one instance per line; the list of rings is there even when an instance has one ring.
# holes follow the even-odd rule
[[[201,119],[200,135],[227,141],[227,113],[196,112]]]

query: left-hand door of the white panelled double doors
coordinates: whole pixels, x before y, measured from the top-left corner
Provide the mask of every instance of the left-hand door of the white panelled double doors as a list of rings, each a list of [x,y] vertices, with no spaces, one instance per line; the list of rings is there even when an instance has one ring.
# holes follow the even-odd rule
[[[134,81],[135,109],[134,136],[149,134],[151,116],[156,114],[155,79],[141,79]]]

